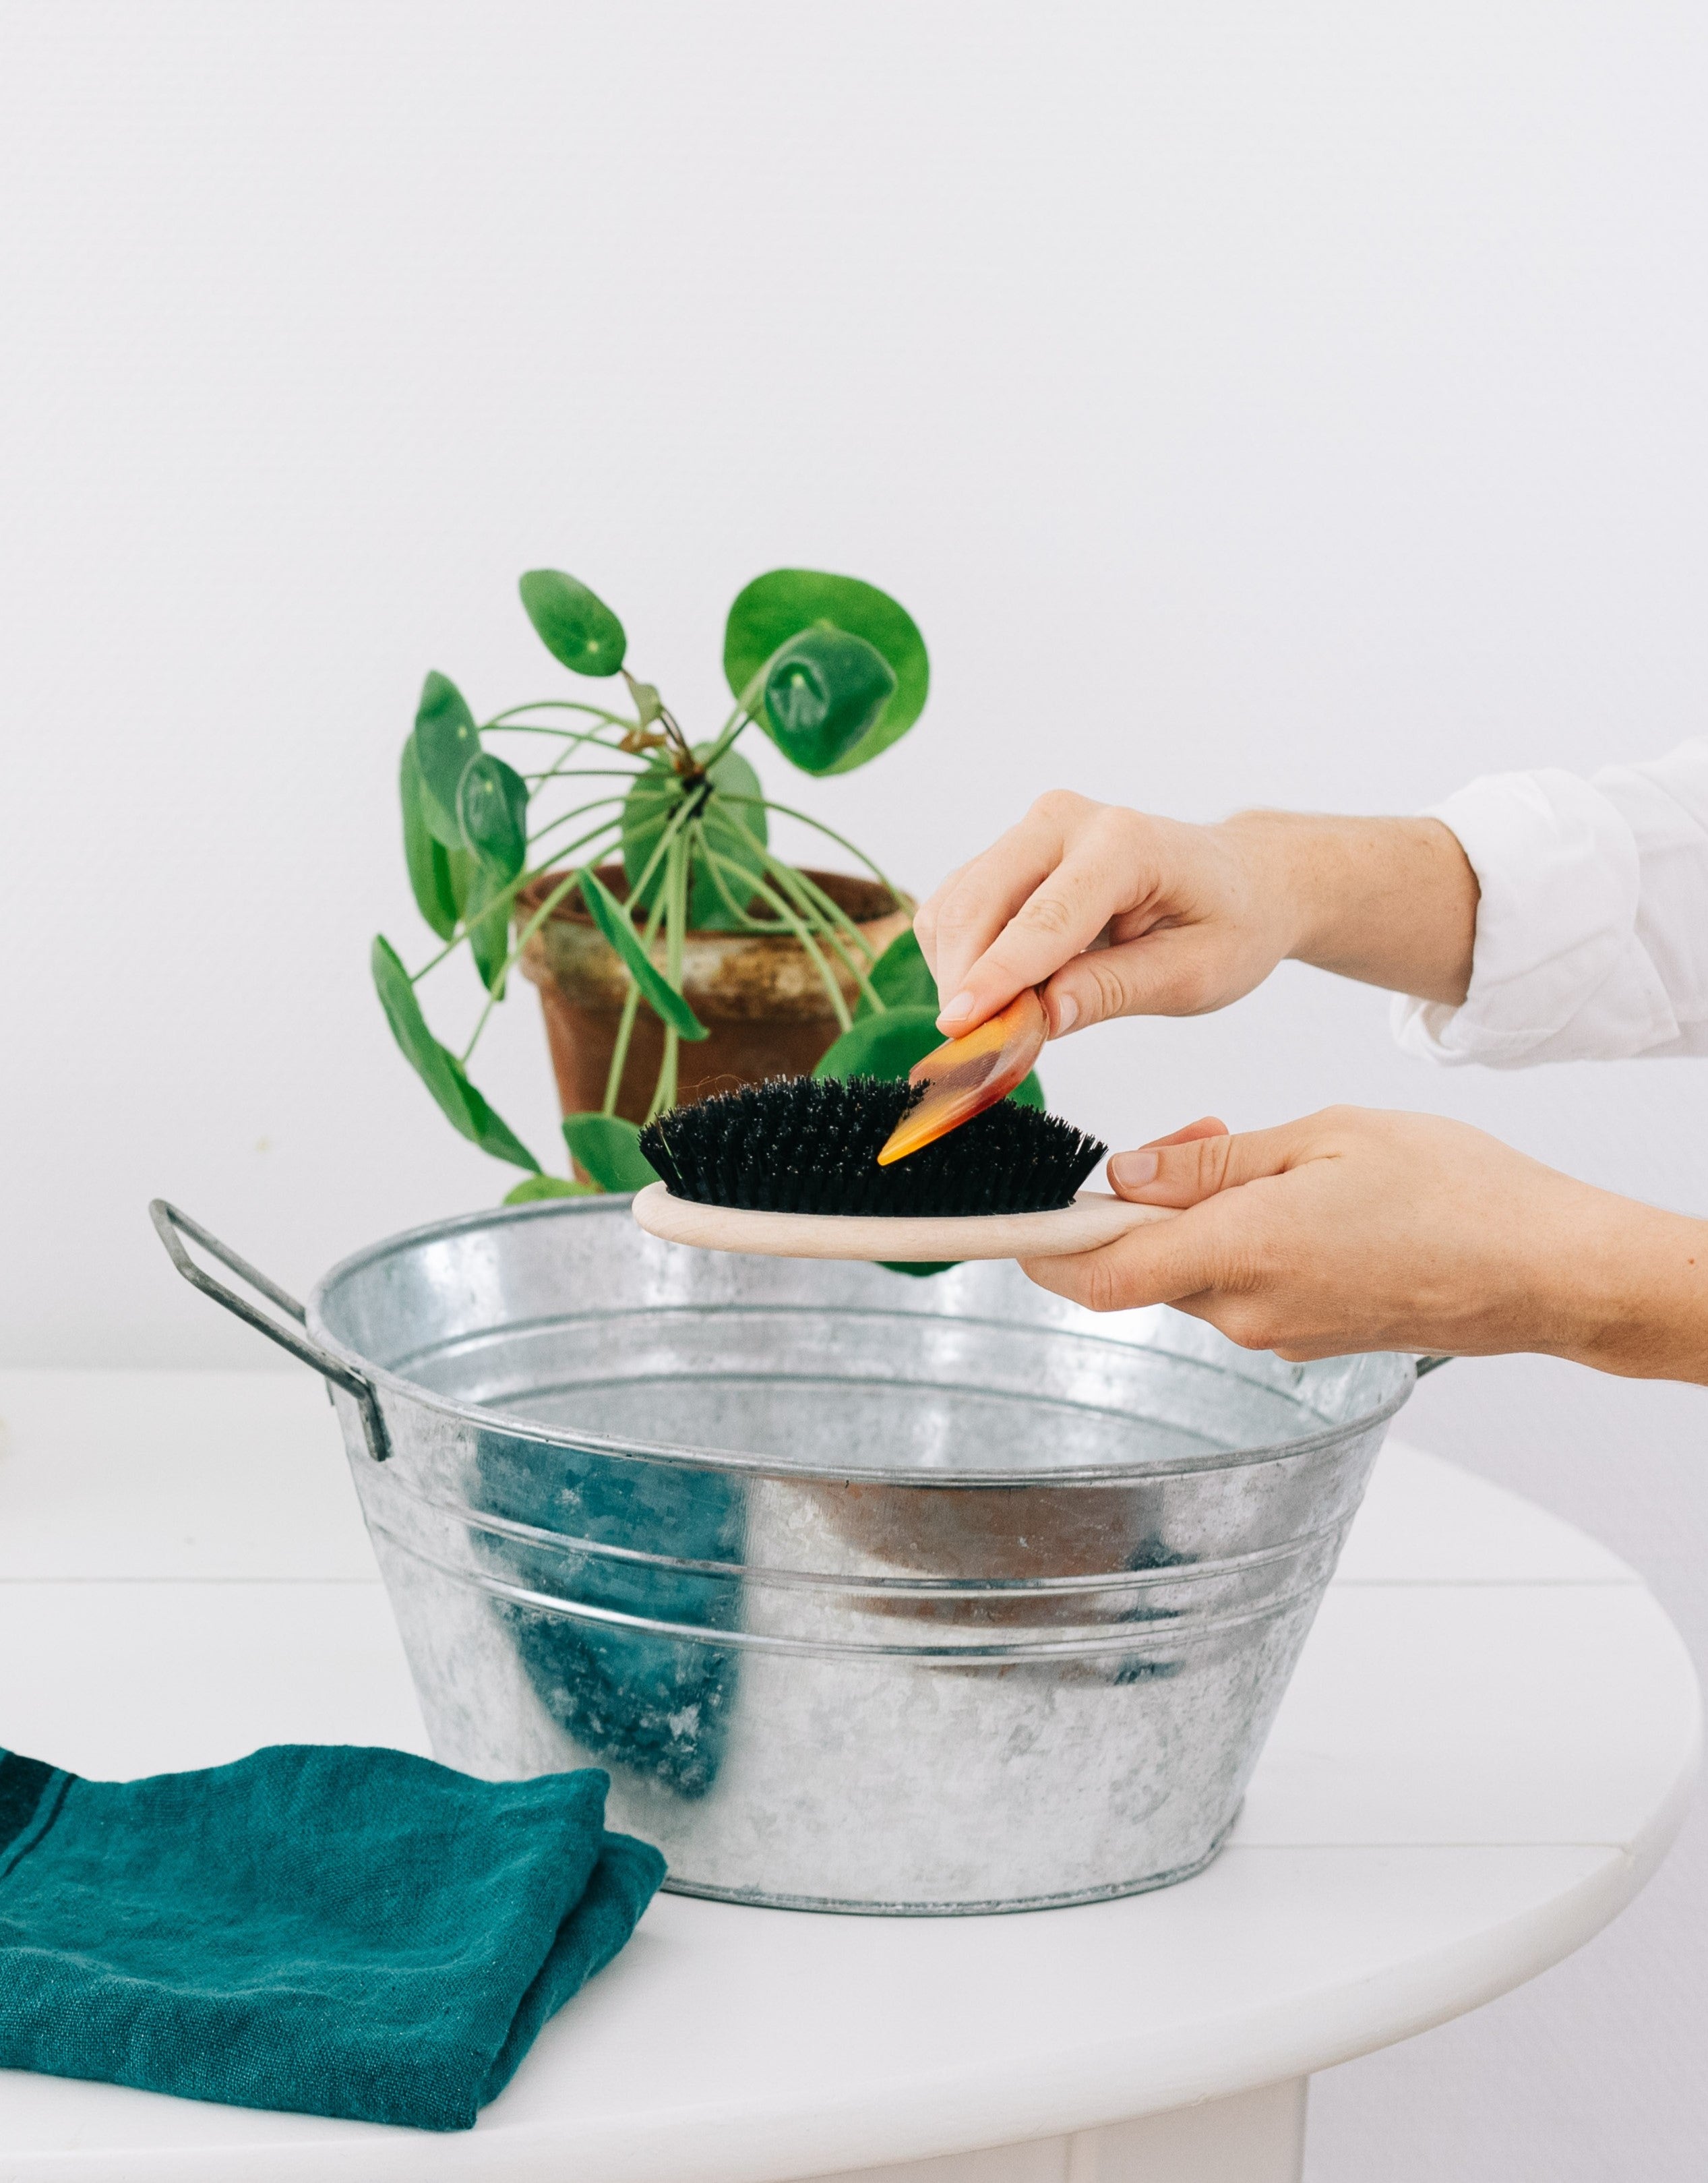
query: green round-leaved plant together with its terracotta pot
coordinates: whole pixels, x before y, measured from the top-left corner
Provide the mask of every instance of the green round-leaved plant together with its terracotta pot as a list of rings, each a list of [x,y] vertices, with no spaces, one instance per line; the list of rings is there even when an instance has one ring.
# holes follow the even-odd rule
[[[404,1054],[465,1137],[526,1170],[510,1203],[650,1181],[639,1124],[720,1085],[811,1067],[905,1074],[940,1037],[912,902],[853,843],[766,797],[737,744],[757,727],[818,777],[905,736],[929,688],[907,611],[853,576],[757,576],[724,629],[733,707],[691,742],[630,675],[622,622],[587,585],[532,570],[521,603],[554,659],[620,683],[628,707],[589,692],[478,723],[456,683],[428,675],[399,795],[410,886],[443,945],[408,971],[373,941]],[[770,812],[866,875],[785,862]],[[458,1054],[428,1028],[417,987],[460,950],[486,1000]],[[517,969],[541,991],[569,1177],[548,1174],[467,1074]]]

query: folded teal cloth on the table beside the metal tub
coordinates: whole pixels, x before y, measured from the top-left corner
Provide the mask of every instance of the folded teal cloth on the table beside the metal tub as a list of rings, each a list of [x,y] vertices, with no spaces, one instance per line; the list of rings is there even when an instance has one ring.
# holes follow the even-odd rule
[[[146,1781],[0,1753],[0,2067],[467,2131],[663,1880],[606,1786],[338,1744]]]

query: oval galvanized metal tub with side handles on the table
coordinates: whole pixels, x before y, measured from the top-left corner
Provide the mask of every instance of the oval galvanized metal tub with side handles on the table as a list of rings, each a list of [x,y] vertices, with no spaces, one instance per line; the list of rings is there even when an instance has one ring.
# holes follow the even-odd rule
[[[434,1753],[604,1766],[667,1886],[868,1912],[1165,1886],[1222,1845],[1400,1356],[1285,1364],[1012,1264],[654,1242],[626,1198],[375,1244],[334,1382]]]

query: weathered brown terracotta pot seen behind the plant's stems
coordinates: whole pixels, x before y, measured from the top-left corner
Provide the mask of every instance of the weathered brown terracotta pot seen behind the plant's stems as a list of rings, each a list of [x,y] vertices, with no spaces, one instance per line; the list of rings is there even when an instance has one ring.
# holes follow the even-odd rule
[[[622,864],[600,867],[600,878],[622,902],[628,893]],[[846,910],[875,954],[907,928],[912,904],[897,904],[877,880],[857,880],[844,871],[814,871],[809,878]],[[545,873],[517,895],[519,926],[561,880],[563,873]],[[844,998],[853,1002],[853,978],[829,950],[825,954]],[[652,961],[663,967],[663,939],[654,943]],[[521,974],[539,987],[563,1111],[587,1113],[602,1107],[628,976],[578,899],[574,908],[561,902],[528,941]],[[681,1046],[676,1096],[683,1102],[759,1083],[763,1076],[805,1076],[838,1037],[835,1011],[818,969],[792,937],[689,932],[683,947],[683,991],[711,1033]],[[630,1122],[646,1120],[661,1059],[663,1024],[641,1004],[617,1094],[617,1113]]]

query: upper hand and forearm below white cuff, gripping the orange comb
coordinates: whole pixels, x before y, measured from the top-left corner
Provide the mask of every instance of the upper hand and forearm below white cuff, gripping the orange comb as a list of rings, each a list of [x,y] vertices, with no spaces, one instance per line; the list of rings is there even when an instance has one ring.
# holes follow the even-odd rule
[[[1438,819],[1182,825],[1069,790],[1038,797],[914,919],[945,1033],[1034,985],[1051,1037],[1224,1009],[1285,956],[1457,1004],[1475,928],[1477,880]]]

